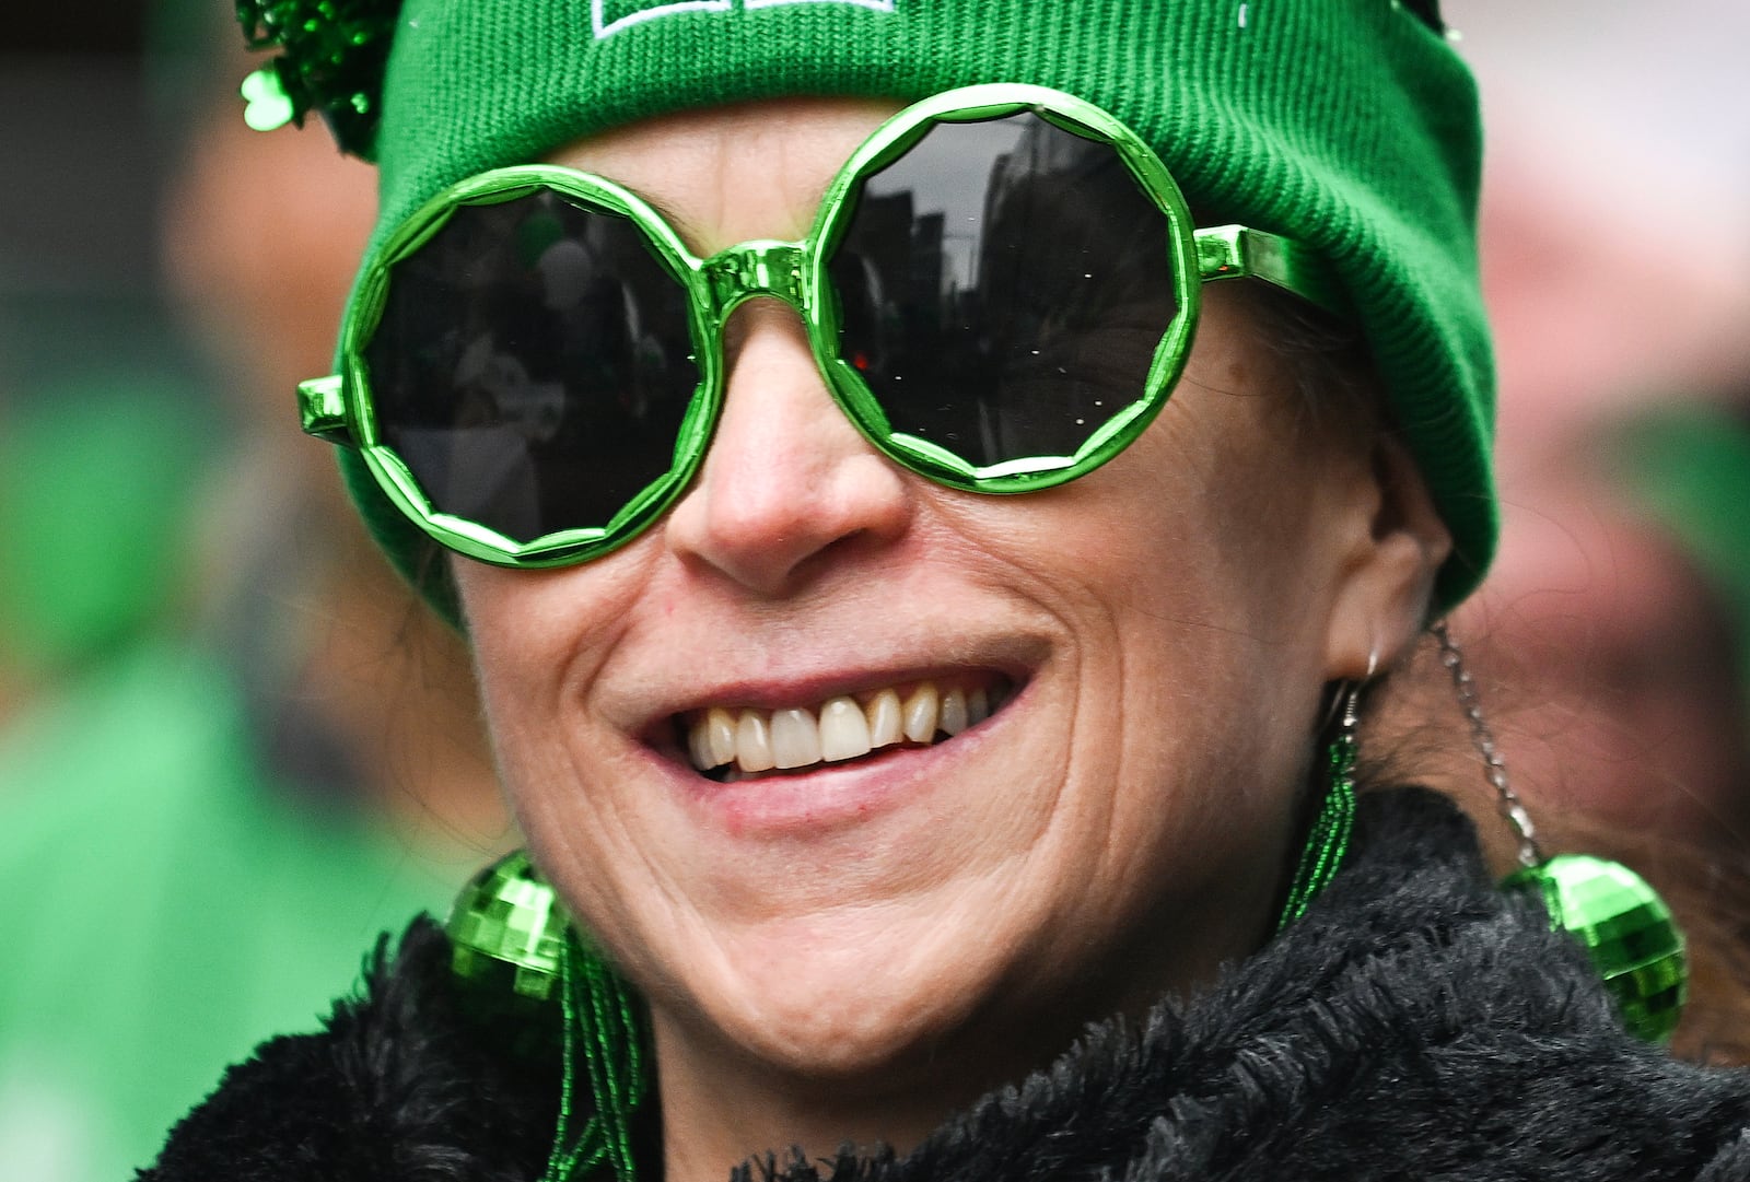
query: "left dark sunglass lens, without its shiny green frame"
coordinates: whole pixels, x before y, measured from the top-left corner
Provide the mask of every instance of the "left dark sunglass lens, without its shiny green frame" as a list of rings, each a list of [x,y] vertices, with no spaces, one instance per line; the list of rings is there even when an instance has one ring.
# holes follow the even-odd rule
[[[621,217],[462,206],[390,271],[364,351],[382,439],[441,512],[520,542],[606,525],[674,460],[686,306]]]

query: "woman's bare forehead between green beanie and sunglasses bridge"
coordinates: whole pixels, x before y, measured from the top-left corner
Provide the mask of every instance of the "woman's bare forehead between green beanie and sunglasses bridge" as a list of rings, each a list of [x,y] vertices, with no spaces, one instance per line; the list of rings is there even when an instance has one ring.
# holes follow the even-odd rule
[[[616,180],[714,252],[802,238],[833,175],[898,101],[786,98],[662,115],[565,145],[548,159]]]

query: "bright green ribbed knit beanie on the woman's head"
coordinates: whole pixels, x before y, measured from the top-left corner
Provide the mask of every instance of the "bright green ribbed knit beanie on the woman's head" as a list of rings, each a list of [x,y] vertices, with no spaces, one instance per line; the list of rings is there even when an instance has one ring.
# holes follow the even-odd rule
[[[1104,107],[1218,222],[1297,238],[1348,285],[1456,549],[1494,547],[1493,364],[1470,72],[1432,0],[404,0],[388,40],[378,240],[446,185],[607,128],[782,94],[910,101],[1036,82]],[[357,108],[368,101],[354,101]],[[376,537],[443,563],[348,455]]]

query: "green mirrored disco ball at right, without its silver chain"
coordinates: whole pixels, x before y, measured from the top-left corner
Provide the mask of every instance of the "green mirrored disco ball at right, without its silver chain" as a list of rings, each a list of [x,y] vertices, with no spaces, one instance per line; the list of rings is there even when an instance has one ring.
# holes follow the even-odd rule
[[[1647,880],[1620,862],[1564,853],[1503,886],[1542,895],[1550,925],[1586,946],[1631,1033],[1671,1037],[1689,997],[1689,962],[1671,909]]]

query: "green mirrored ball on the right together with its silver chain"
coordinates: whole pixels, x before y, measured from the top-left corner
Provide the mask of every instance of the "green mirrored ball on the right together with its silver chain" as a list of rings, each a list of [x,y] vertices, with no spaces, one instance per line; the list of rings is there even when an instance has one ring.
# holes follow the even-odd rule
[[[1440,663],[1451,673],[1458,703],[1470,720],[1484,776],[1519,838],[1521,869],[1508,874],[1502,886],[1536,892],[1550,927],[1568,932],[1586,948],[1617,1004],[1622,1025],[1648,1042],[1664,1042],[1676,1030],[1689,997],[1689,960],[1671,909],[1647,880],[1620,862],[1577,853],[1544,857],[1531,815],[1507,783],[1507,766],[1489,724],[1482,720],[1477,685],[1465,670],[1463,654],[1446,622],[1432,631],[1440,643]]]

